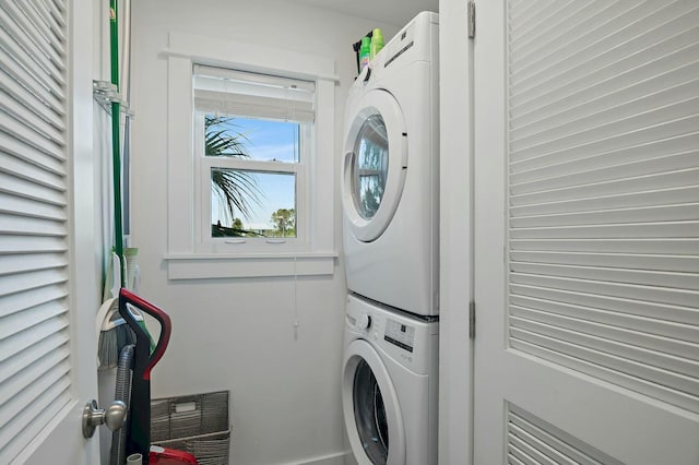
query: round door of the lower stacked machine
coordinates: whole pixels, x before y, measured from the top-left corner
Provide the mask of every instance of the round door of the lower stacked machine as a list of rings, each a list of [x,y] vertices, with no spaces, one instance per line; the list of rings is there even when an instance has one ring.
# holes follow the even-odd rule
[[[342,403],[350,443],[359,465],[405,463],[398,396],[378,353],[362,339],[345,353]]]

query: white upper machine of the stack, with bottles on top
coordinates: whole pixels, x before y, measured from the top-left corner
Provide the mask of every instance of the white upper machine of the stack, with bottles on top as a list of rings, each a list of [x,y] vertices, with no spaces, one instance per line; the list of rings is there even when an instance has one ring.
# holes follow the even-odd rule
[[[439,312],[438,15],[403,27],[350,91],[343,172],[351,291]]]

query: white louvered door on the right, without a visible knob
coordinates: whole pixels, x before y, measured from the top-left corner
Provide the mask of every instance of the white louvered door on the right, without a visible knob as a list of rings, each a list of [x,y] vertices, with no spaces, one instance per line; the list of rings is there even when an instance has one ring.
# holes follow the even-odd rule
[[[475,464],[699,464],[699,2],[477,2]]]

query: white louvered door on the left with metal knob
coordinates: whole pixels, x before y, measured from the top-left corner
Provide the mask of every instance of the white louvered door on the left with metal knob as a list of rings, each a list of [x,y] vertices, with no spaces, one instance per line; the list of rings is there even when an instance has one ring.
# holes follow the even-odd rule
[[[81,426],[97,396],[100,285],[92,20],[86,0],[0,3],[3,464],[99,462],[97,440],[85,440]]]

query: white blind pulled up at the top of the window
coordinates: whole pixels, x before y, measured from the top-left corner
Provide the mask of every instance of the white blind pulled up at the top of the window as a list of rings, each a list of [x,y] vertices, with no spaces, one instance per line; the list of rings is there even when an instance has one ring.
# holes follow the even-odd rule
[[[216,115],[313,122],[313,82],[194,65],[194,107]]]

